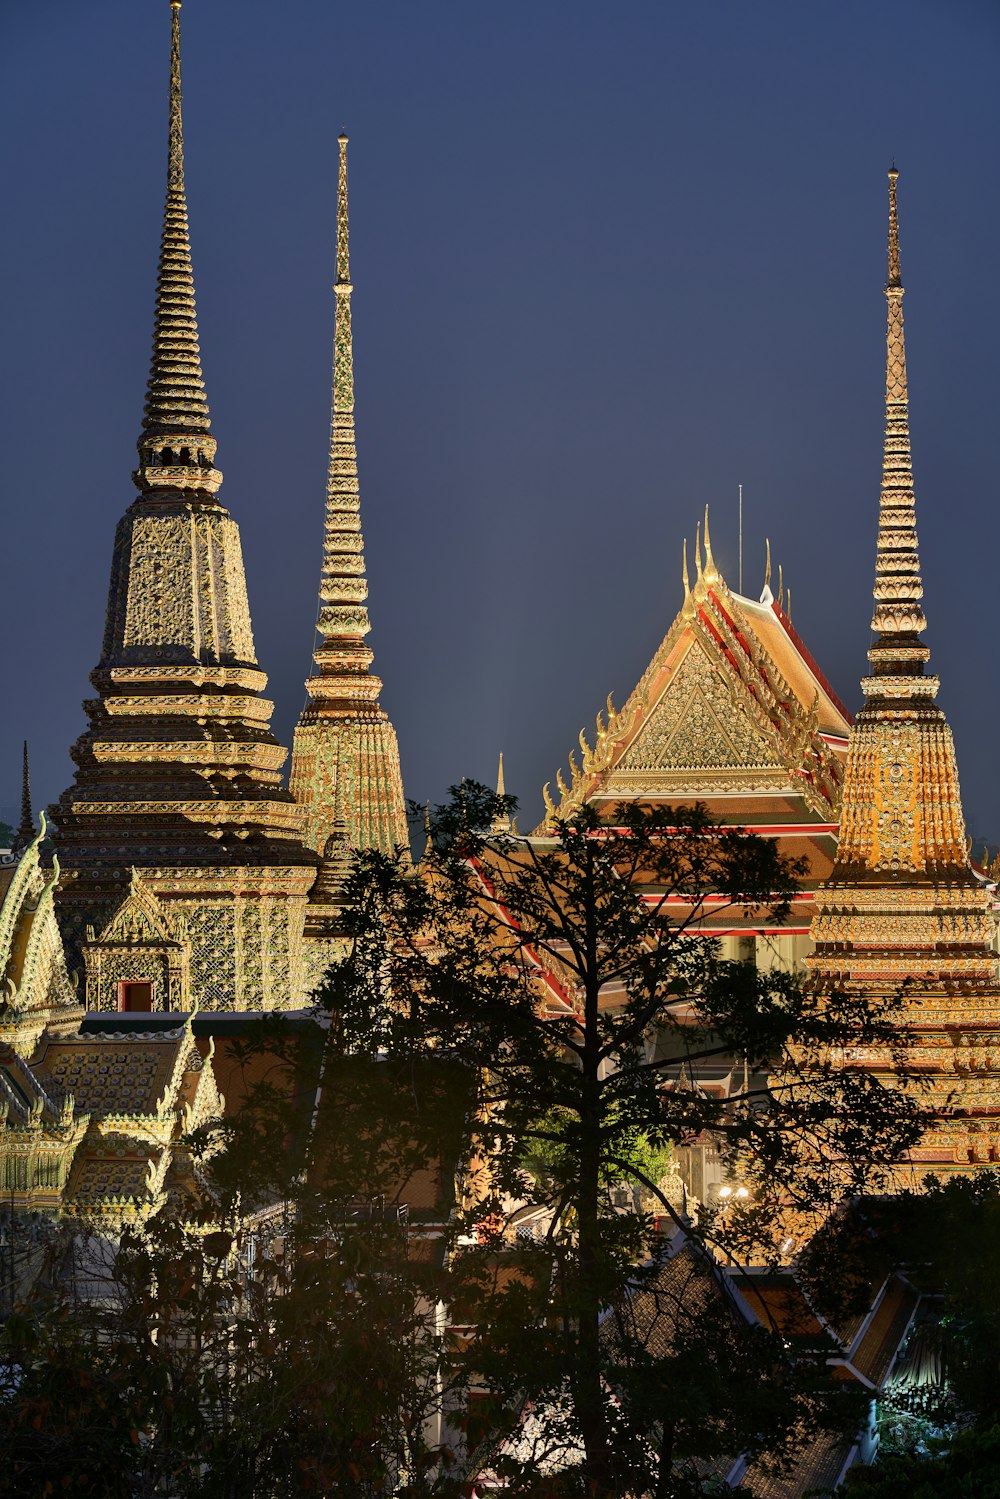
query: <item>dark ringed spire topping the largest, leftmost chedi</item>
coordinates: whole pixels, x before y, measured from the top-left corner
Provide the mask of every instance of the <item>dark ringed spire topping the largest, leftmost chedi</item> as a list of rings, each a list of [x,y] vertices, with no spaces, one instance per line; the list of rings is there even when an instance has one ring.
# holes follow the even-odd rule
[[[156,276],[153,358],[145,414],[133,474],[144,495],[201,492],[214,495],[222,474],[214,465],[205,382],[198,348],[195,276],[184,196],[184,127],[180,87],[180,0],[171,3],[169,123],[166,136],[166,204]]]

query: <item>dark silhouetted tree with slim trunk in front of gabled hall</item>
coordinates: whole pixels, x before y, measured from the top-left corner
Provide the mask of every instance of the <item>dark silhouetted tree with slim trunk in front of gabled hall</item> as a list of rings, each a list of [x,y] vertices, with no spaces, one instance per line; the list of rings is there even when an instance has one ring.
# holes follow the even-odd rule
[[[703,1211],[696,1237],[774,1253],[790,1214],[811,1222],[885,1184],[919,1111],[838,1055],[898,1058],[892,1006],[720,958],[699,926],[709,902],[787,913],[798,871],[771,841],[703,808],[636,805],[615,826],[583,808],[544,838],[496,836],[510,805],[456,788],[430,817],[421,877],[402,859],[361,860],[352,950],[321,1001],[346,1051],[441,1052],[477,1079],[466,1226],[480,1243],[456,1256],[453,1295],[475,1325],[465,1378],[493,1472],[516,1493],[700,1492],[711,1460],[780,1456],[856,1412],[819,1388],[814,1364],[796,1373],[777,1331],[748,1337],[706,1313],[699,1337],[675,1307],[657,1354],[628,1316],[615,1325],[609,1309],[655,1291],[664,1252],[606,1186],[640,1181],[673,1213],[636,1142],[667,1151],[709,1132],[750,1198]],[[726,1100],[690,1081],[721,1055],[747,1064]],[[547,1232],[505,1249],[505,1220],[525,1208]]]

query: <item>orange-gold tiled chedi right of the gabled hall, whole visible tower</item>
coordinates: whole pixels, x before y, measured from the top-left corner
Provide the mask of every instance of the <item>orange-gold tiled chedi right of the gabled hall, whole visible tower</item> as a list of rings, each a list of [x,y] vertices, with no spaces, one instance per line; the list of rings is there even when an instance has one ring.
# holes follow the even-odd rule
[[[1000,991],[991,896],[969,863],[952,732],[925,667],[903,343],[897,171],[889,172],[886,436],[876,642],[850,735],[837,862],[813,922],[817,982],[900,997],[936,1123],[918,1174],[1000,1159]],[[883,1070],[877,1054],[855,1064]]]

